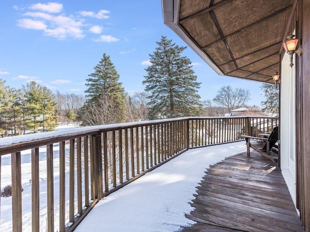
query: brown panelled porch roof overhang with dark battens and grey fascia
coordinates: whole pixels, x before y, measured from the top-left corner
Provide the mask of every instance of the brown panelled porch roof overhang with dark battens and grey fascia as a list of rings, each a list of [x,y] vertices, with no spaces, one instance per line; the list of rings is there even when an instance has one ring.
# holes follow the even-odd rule
[[[164,23],[217,74],[274,83],[294,0],[162,0]]]

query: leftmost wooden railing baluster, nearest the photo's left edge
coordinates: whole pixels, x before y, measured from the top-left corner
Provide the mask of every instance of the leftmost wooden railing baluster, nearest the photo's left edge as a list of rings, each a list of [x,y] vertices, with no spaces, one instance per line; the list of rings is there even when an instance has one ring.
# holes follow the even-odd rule
[[[12,174],[12,230],[22,231],[22,208],[21,208],[21,157],[20,152],[11,154]]]

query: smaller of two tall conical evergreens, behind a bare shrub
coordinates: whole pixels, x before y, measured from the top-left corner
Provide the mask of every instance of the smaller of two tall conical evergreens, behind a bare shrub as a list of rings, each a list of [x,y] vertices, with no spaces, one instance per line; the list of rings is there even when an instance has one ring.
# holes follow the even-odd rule
[[[89,78],[86,79],[87,83],[85,84],[88,89],[85,90],[86,93],[86,102],[81,110],[81,118],[83,120],[83,112],[87,111],[88,108],[94,106],[100,107],[100,99],[103,96],[107,96],[113,101],[113,107],[116,108],[113,114],[115,114],[115,122],[120,123],[125,121],[126,116],[126,98],[124,94],[124,88],[122,83],[119,81],[119,74],[116,72],[116,69],[113,63],[110,60],[110,57],[105,53],[103,58],[99,61],[94,67],[94,73],[88,75]],[[89,119],[87,119],[89,120]],[[93,125],[93,122],[87,122],[84,118],[84,125]]]

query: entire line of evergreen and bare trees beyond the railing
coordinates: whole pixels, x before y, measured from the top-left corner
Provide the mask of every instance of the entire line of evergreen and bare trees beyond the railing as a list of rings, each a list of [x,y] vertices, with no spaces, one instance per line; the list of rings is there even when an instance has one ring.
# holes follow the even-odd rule
[[[20,89],[5,85],[0,79],[0,134],[52,131],[58,122],[79,121],[82,126],[152,120],[183,116],[222,116],[244,106],[250,92],[223,86],[211,101],[198,94],[201,83],[189,58],[182,56],[184,46],[162,36],[145,71],[144,92],[129,96],[109,55],[103,54],[93,73],[86,79],[85,97],[53,94],[34,81]],[[262,86],[267,97],[265,108],[277,112],[279,93],[273,86]],[[270,93],[275,92],[272,99]],[[278,96],[278,102],[277,102]]]

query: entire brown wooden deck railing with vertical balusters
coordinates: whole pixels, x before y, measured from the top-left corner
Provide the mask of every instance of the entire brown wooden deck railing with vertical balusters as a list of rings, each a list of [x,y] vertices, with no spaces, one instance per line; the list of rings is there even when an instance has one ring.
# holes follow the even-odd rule
[[[12,183],[12,219],[0,217],[0,231],[73,231],[103,197],[187,149],[241,140],[243,134],[277,125],[271,117],[185,117],[88,127],[57,136],[46,132],[43,139],[18,136],[25,142],[0,146],[0,164],[5,160],[3,168],[11,166]],[[30,176],[22,169],[24,156],[31,157]],[[8,214],[7,209],[0,214]]]

